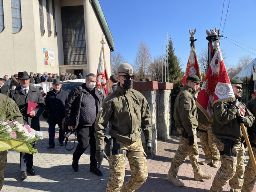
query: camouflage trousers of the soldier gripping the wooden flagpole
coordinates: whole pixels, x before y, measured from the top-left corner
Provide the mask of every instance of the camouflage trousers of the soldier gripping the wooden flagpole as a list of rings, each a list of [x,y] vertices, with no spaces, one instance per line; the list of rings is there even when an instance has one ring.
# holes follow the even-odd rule
[[[215,143],[219,151],[224,150],[224,144],[220,139],[216,138]],[[222,187],[228,182],[230,191],[240,192],[245,172],[245,148],[242,143],[236,143],[232,152],[235,152],[237,157],[221,155],[221,167],[214,177],[210,192],[221,192]]]

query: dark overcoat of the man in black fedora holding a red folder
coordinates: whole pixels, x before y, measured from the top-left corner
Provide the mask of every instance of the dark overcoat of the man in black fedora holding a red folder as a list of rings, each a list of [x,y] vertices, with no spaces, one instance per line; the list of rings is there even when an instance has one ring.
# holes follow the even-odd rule
[[[45,107],[44,99],[42,98],[40,90],[29,86],[29,91],[26,96],[25,93],[22,91],[21,86],[18,85],[16,89],[11,91],[10,97],[17,103],[20,112],[23,115],[24,124],[28,124],[31,128],[33,128],[36,131],[40,131],[39,117],[41,113],[44,111]],[[28,101],[38,104],[36,109],[34,109],[34,117],[31,117],[29,114],[27,114]]]

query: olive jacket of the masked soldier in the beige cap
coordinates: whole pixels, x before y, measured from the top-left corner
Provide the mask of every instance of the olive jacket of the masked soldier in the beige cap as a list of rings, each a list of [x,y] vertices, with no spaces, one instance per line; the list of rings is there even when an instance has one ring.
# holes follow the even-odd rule
[[[95,122],[96,150],[104,149],[105,128],[112,124],[109,135],[123,143],[140,140],[141,130],[146,140],[152,139],[151,112],[146,98],[138,91],[123,89],[118,83],[116,91],[103,101]]]

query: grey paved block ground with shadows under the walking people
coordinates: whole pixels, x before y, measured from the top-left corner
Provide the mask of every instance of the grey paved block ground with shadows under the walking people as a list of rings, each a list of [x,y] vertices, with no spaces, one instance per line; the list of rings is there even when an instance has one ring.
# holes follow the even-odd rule
[[[72,163],[73,151],[65,150],[64,146],[58,145],[58,128],[55,135],[55,148],[48,147],[48,123],[41,117],[41,131],[44,139],[38,141],[36,147],[39,154],[34,155],[34,166],[36,171],[34,176],[28,175],[24,181],[20,180],[20,154],[16,151],[9,151],[7,156],[7,165],[4,171],[4,186],[1,192],[103,192],[106,189],[107,180],[110,176],[108,171],[108,162],[102,163],[100,170],[103,176],[98,177],[89,172],[89,148],[82,155],[79,161],[79,171],[74,172]],[[70,138],[72,138],[71,136]],[[71,139],[71,142],[74,140]],[[73,143],[68,143],[71,148]],[[77,144],[77,143],[76,143]],[[154,157],[147,157],[149,176],[147,181],[137,190],[137,192],[205,192],[211,188],[212,180],[195,181],[194,174],[189,159],[181,165],[178,172],[185,186],[180,188],[166,180],[171,160],[178,148],[178,137],[172,137],[169,141],[157,142],[158,153]],[[203,154],[198,139],[199,154]],[[248,160],[248,156],[246,157]],[[199,162],[204,160],[203,155],[199,155]],[[212,173],[214,176],[218,168],[210,166],[201,166],[206,174]],[[130,176],[129,165],[126,166],[125,181]],[[230,187],[225,185],[223,191],[229,191]],[[254,189],[256,192],[256,187]]]

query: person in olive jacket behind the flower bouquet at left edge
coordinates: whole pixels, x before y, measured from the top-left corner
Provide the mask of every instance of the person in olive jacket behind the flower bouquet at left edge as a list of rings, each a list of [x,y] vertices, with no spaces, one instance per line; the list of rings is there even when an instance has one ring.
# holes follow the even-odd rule
[[[17,106],[17,104],[14,102],[14,100],[12,100],[11,98],[7,97],[6,95],[3,95],[0,93],[0,108],[3,107],[3,104],[5,103],[6,99],[8,99],[9,102],[9,106],[6,109],[6,113],[3,113],[3,115],[5,114],[10,114],[13,115],[15,114],[15,116],[13,117],[13,119],[10,119],[12,121],[18,121],[19,123],[23,124],[23,116],[20,113],[20,110]],[[14,107],[11,107],[14,106]],[[12,111],[10,111],[9,109],[11,109]],[[3,119],[0,120],[4,120],[7,119],[8,117],[2,117]],[[0,151],[0,191],[4,185],[4,168],[6,166],[6,162],[7,162],[7,151]]]

